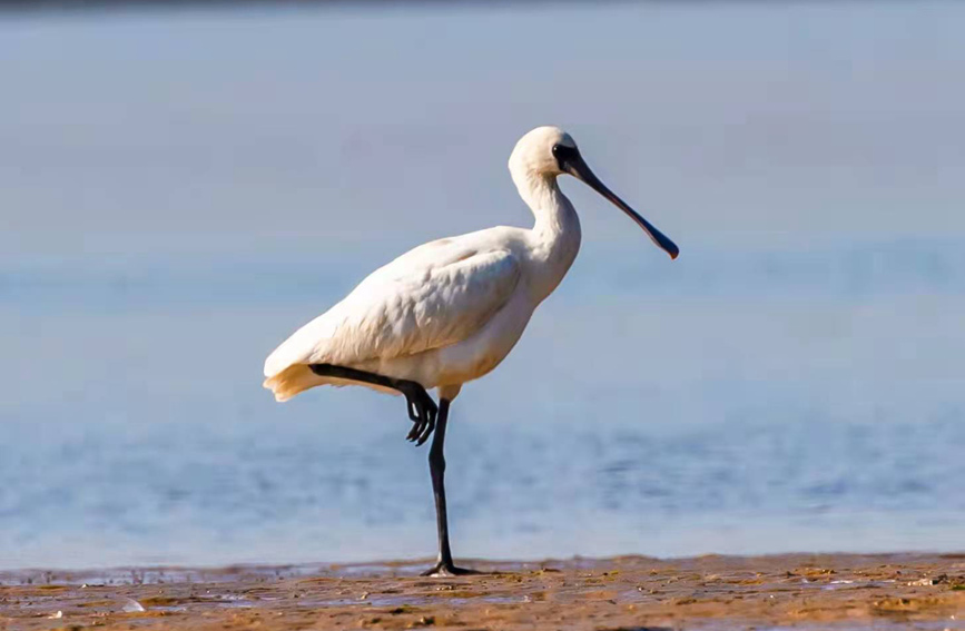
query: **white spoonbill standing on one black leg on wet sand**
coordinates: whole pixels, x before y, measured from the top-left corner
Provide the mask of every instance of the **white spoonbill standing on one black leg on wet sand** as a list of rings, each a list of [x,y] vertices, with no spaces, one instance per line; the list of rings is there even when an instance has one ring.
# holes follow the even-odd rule
[[[423,575],[476,573],[455,565],[445,504],[449,412],[463,384],[495,368],[580,249],[580,218],[560,189],[570,175],[626,213],[676,259],[672,240],[590,170],[573,138],[554,126],[526,132],[510,175],[535,217],[531,229],[499,226],[417,246],[362,280],[298,328],[265,361],[264,386],[279,402],[322,386],[358,385],[405,397],[416,445],[433,437],[429,469],[439,554]],[[439,403],[429,394],[435,390]]]

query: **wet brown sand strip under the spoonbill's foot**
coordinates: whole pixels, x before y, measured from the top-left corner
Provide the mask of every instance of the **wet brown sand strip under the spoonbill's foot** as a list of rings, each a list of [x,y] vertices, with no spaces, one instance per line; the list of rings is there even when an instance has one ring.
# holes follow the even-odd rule
[[[965,629],[965,554],[0,573],[0,629]]]

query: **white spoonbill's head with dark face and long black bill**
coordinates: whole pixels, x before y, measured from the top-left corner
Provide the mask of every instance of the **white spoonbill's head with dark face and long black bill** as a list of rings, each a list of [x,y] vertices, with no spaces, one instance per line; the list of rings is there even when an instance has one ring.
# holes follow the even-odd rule
[[[580,155],[572,136],[559,127],[536,127],[520,138],[510,155],[510,172],[513,179],[519,177],[553,177],[569,174],[590,188],[609,199],[617,208],[623,210],[633,221],[643,228],[647,236],[661,249],[677,258],[680,249],[663,233],[650,221],[630,208],[622,199],[607,188],[600,178],[593,175],[590,167]]]

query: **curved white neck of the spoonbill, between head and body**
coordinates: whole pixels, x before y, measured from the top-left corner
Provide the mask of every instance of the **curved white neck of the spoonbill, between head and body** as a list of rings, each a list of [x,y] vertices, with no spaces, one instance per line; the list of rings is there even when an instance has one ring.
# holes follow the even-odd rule
[[[524,174],[513,177],[523,201],[536,218],[531,230],[534,274],[531,289],[542,302],[567,275],[580,252],[580,218],[560,190],[557,176]]]

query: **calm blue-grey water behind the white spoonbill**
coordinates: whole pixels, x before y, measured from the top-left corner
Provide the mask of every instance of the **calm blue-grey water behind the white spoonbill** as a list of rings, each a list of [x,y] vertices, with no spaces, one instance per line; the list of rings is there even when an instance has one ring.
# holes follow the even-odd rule
[[[503,164],[548,119],[682,255],[564,184],[583,252],[454,405],[456,553],[965,549],[965,95],[941,80],[961,9],[797,6],[817,53],[737,7],[0,24],[0,569],[432,555],[402,402],[277,405],[262,362],[405,248],[528,221]],[[553,33],[510,36],[540,11],[619,32],[531,77],[510,52]],[[462,48],[380,57],[413,28]],[[879,98],[912,77],[941,98]]]

